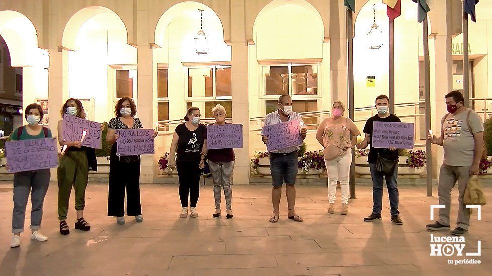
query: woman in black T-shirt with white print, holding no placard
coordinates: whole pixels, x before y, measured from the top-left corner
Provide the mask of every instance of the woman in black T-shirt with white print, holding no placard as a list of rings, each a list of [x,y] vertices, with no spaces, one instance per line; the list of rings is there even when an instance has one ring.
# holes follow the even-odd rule
[[[181,213],[179,217],[188,216],[188,195],[190,196],[191,217],[198,217],[196,203],[200,195],[200,175],[204,167],[207,153],[207,127],[200,123],[200,109],[191,107],[186,113],[185,123],[176,127],[169,156],[168,166],[178,169],[179,198],[181,200]]]

